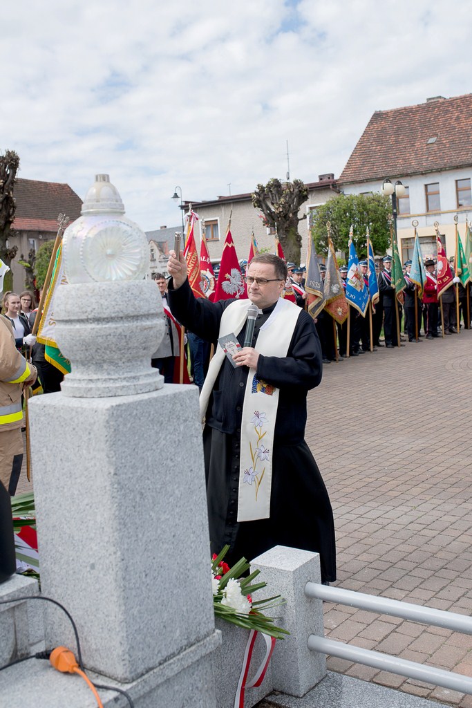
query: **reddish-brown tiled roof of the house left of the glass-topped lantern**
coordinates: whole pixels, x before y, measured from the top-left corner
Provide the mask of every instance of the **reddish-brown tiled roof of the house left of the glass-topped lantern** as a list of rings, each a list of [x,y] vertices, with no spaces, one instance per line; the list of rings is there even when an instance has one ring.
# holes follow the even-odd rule
[[[79,218],[82,200],[67,184],[17,179],[13,189],[16,214],[13,229],[57,232],[57,217]]]

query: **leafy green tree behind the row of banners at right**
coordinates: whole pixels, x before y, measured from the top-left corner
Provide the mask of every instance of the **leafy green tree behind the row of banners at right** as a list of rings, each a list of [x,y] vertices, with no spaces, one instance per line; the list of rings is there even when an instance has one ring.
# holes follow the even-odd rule
[[[328,231],[326,223],[331,224],[331,239],[337,251],[347,253],[349,230],[353,228],[353,241],[357,256],[366,258],[367,243],[365,234],[369,227],[370,240],[374,253],[385,253],[390,244],[391,200],[380,193],[376,194],[340,194],[326,204],[313,210],[310,217],[310,231],[316,253],[328,251]]]

